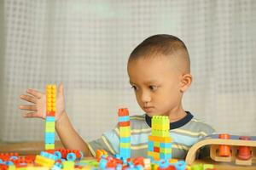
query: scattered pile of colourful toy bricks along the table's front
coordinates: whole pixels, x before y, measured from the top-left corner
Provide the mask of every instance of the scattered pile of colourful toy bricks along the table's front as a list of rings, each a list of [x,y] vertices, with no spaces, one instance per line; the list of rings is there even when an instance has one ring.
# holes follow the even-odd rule
[[[108,156],[105,150],[96,150],[96,159],[84,160],[79,150],[55,150],[54,154],[42,151],[38,156],[0,154],[1,170],[78,170],[78,169],[117,169],[117,170],[206,170],[212,165],[198,164],[192,167],[185,161],[175,159],[151,161],[150,158],[127,159],[119,155]]]

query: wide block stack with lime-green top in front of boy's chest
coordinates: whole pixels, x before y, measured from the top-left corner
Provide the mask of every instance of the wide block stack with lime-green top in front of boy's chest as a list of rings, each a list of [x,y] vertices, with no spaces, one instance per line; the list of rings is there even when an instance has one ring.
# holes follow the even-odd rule
[[[172,138],[168,116],[153,116],[152,133],[148,136],[148,157],[154,161],[172,159]]]

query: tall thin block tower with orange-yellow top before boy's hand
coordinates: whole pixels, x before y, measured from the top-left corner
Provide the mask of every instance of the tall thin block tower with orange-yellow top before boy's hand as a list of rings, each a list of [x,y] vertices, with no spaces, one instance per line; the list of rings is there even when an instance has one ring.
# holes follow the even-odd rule
[[[55,149],[56,87],[46,86],[45,150]]]

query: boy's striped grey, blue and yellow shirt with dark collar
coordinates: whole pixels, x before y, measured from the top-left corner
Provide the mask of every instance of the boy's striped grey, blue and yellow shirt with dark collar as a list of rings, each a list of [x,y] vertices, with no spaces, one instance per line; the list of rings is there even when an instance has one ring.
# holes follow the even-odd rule
[[[183,119],[170,123],[172,137],[172,157],[184,159],[189,148],[201,138],[214,133],[214,129],[204,122],[198,121],[186,111]],[[131,157],[147,157],[148,135],[151,134],[151,117],[144,114],[131,116]],[[119,153],[119,127],[103,133],[100,139],[88,143],[90,152],[95,156],[96,150],[106,150],[109,155]]]

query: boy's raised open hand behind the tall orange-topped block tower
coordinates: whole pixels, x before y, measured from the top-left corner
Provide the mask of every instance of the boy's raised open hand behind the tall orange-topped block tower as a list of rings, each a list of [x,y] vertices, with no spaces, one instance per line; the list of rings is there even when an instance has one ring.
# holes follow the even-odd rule
[[[20,105],[21,110],[25,110],[24,117],[45,118],[46,116],[46,95],[34,89],[27,89],[27,94],[20,95],[20,99],[30,102],[31,105]],[[29,95],[30,94],[30,95]],[[57,89],[55,121],[58,121],[62,113],[65,112],[65,99],[63,94],[63,84]]]

